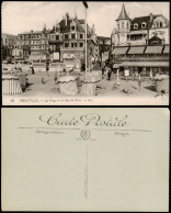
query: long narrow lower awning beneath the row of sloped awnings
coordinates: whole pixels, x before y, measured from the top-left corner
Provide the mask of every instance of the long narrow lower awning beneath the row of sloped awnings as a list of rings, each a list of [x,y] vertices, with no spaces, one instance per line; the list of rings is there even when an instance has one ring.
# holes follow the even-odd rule
[[[169,61],[124,61],[119,67],[169,67]]]

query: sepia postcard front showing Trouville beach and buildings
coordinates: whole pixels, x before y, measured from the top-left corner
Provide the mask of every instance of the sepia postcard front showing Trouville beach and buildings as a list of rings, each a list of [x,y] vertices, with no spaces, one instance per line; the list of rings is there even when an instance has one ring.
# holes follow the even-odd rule
[[[3,1],[3,105],[168,105],[169,1]]]

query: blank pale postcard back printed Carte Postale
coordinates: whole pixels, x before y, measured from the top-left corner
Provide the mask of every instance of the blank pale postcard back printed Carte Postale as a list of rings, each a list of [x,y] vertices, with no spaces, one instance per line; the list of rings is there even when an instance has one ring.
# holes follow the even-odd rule
[[[2,109],[3,211],[169,211],[161,108]]]

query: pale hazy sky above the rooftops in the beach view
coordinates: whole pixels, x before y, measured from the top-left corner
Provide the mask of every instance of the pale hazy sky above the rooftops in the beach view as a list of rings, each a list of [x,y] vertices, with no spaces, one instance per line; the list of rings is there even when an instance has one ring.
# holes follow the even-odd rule
[[[95,25],[99,36],[111,36],[115,20],[123,2],[116,1],[88,1],[88,24]],[[130,19],[136,16],[163,14],[170,18],[169,2],[124,2]],[[76,11],[76,12],[75,12]],[[52,29],[56,21],[61,21],[68,12],[70,16],[77,13],[78,19],[84,19],[82,1],[3,1],[2,2],[2,32],[16,35],[26,31],[41,31],[46,23]]]

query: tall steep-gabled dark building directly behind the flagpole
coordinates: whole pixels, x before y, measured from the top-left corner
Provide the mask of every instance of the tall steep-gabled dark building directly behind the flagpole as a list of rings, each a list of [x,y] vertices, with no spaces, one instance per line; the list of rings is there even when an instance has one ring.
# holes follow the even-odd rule
[[[88,49],[95,56],[96,35],[94,26],[88,27]],[[72,60],[84,59],[86,51],[86,22],[79,20],[77,15],[70,18],[68,13],[60,22],[56,22],[53,31],[49,33],[49,47],[52,59]],[[57,54],[58,53],[58,54]]]

